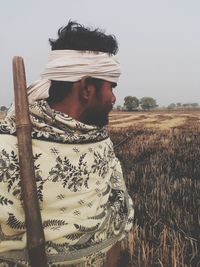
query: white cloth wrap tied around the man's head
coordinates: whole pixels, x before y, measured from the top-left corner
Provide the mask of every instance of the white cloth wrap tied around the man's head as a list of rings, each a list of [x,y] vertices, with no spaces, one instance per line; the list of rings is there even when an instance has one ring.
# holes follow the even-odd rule
[[[120,67],[116,56],[93,51],[52,51],[41,79],[28,88],[29,103],[49,97],[51,80],[76,82],[84,76],[117,83]]]

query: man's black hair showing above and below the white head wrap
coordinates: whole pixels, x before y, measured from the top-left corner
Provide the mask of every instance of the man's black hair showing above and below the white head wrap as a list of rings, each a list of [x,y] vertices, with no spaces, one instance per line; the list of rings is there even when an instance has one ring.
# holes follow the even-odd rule
[[[57,39],[49,39],[52,50],[81,50],[99,51],[115,55],[118,51],[118,43],[114,35],[106,35],[103,30],[84,27],[83,25],[69,21],[65,27],[58,30]],[[89,79],[95,87],[100,88],[102,81]],[[49,104],[58,103],[71,92],[73,82],[51,81],[49,89]]]

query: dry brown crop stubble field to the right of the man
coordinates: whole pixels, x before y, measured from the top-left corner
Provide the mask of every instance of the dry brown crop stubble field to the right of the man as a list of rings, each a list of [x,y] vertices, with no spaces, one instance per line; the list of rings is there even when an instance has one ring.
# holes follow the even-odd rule
[[[200,111],[113,112],[109,128],[135,208],[121,266],[200,266]]]

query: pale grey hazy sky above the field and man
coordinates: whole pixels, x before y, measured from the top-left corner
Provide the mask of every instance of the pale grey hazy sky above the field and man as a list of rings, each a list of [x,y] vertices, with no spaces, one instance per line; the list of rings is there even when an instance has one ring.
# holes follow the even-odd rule
[[[39,78],[49,38],[75,20],[114,34],[125,96],[153,97],[159,106],[200,104],[199,0],[6,0],[0,2],[0,106],[13,101],[12,58],[22,56],[27,85]]]

